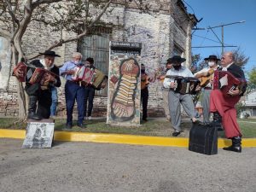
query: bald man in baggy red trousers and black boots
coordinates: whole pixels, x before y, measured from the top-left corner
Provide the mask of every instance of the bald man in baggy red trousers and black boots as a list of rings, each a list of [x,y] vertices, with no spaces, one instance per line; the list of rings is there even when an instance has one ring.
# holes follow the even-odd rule
[[[241,67],[234,63],[232,52],[226,52],[221,57],[221,66],[219,70],[231,73],[236,79],[245,79]],[[214,74],[215,75],[215,74]],[[215,77],[214,77],[215,80]],[[216,84],[219,82],[214,82]],[[228,84],[232,85],[232,84]],[[224,127],[225,137],[232,139],[232,145],[224,150],[241,152],[241,130],[236,121],[236,103],[246,91],[246,85],[241,89],[236,87],[234,90],[224,92],[219,89],[213,89],[210,96],[210,111],[213,113],[212,125]]]

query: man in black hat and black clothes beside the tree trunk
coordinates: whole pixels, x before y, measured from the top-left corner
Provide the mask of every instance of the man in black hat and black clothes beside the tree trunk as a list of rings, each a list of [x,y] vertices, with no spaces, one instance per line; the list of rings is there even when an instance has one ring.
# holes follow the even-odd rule
[[[29,96],[28,102],[28,119],[49,119],[50,106],[51,106],[51,87],[60,87],[61,79],[59,77],[59,68],[54,65],[56,55],[55,51],[46,50],[44,53],[44,59],[34,60],[30,63],[33,67],[40,67],[55,75],[48,75],[45,82],[49,82],[47,85],[40,83],[29,84],[26,83],[25,90]]]

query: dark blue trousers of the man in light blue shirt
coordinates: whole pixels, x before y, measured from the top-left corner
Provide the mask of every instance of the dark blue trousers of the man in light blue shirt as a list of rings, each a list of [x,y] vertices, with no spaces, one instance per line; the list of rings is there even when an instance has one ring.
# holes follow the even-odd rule
[[[67,125],[73,124],[73,106],[75,100],[78,103],[78,124],[82,124],[84,120],[84,86],[80,86],[72,81],[65,84],[65,98],[67,107]]]

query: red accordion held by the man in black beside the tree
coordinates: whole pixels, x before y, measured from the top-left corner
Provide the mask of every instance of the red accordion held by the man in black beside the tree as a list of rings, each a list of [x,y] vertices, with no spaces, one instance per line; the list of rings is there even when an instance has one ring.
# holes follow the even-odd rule
[[[20,72],[20,76],[17,77],[17,79],[20,82],[26,82],[29,84],[40,83],[42,85],[48,85],[49,82],[45,82],[46,77],[48,75],[55,76],[54,73],[51,73],[44,68],[27,66],[23,62],[18,63],[14,68],[14,73],[16,73],[16,71]]]

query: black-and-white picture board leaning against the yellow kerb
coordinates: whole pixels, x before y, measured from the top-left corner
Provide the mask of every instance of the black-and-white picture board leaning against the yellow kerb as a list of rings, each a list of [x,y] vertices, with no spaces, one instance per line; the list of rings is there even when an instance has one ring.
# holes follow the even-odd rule
[[[22,148],[51,148],[54,127],[54,123],[28,123]]]

